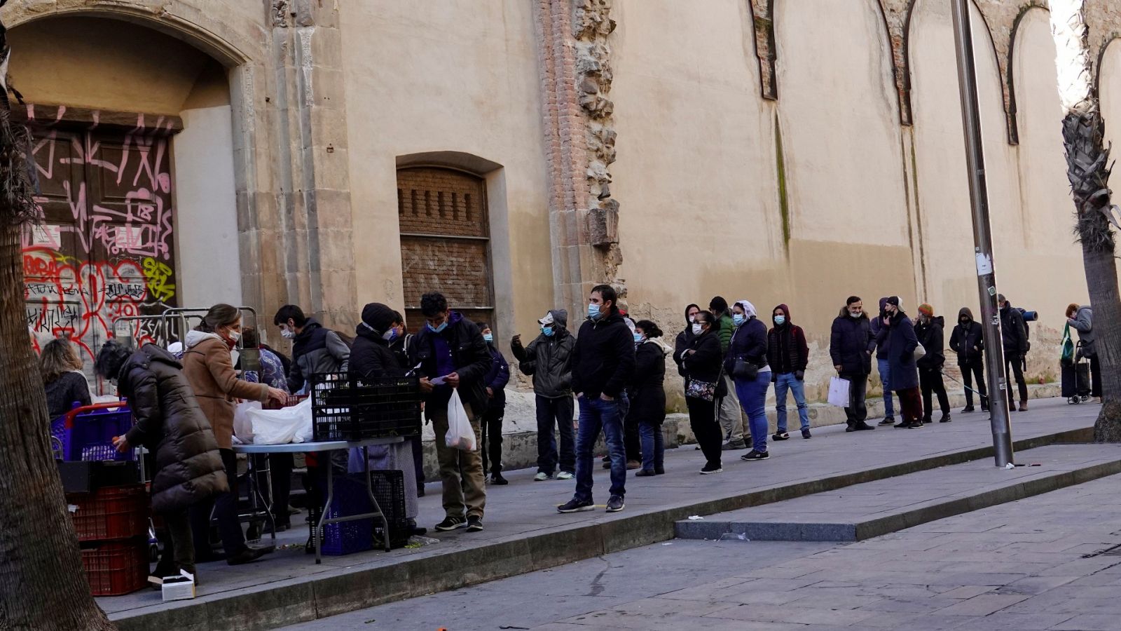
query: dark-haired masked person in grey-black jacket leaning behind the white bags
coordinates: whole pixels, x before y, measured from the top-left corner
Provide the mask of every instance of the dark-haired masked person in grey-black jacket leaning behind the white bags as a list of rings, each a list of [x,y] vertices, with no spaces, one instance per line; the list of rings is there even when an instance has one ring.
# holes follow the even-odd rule
[[[272,322],[285,339],[293,341],[289,391],[304,391],[309,385],[312,375],[346,372],[350,346],[337,332],[324,328],[315,318],[304,316],[304,310],[298,305],[281,307]]]

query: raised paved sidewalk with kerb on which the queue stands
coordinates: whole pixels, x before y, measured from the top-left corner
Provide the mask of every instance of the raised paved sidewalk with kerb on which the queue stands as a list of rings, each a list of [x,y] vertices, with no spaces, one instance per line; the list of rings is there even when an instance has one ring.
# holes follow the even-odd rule
[[[1069,406],[1063,400],[1032,401],[1031,411],[1013,414],[1013,439],[1085,429],[1092,427],[1097,411],[1097,406]],[[511,472],[509,486],[488,490],[487,530],[480,533],[460,530],[438,534],[437,545],[325,557],[324,564],[316,566],[303,552],[306,529],[297,528],[280,538],[281,543],[297,549],[278,550],[248,566],[201,565],[202,587],[194,601],[165,605],[157,593],[139,592],[99,598],[99,603],[122,630],[191,624],[198,629],[245,624],[269,628],[282,621],[322,618],[362,604],[502,578],[665,540],[673,536],[675,519],[694,514],[688,511],[734,510],[748,502],[827,490],[823,483],[837,476],[864,482],[915,470],[908,467],[925,458],[962,461],[981,457],[978,450],[991,449],[986,417],[974,413],[955,419],[921,430],[887,428],[846,433],[843,427],[822,428],[815,430],[812,440],[794,438],[773,443],[770,460],[743,463],[740,452],[725,452],[725,470],[714,476],[697,475],[703,458],[692,446],[667,451],[667,475],[628,478],[627,510],[619,514],[558,514],[555,506],[572,496],[572,482],[535,483],[532,469]],[[605,501],[605,470],[596,470],[595,485],[596,500]],[[423,525],[430,528],[443,519],[439,501],[438,483],[429,484],[428,496],[420,502]],[[462,564],[474,566],[474,571],[463,571]],[[380,570],[392,574],[370,574]],[[390,577],[396,580],[392,585],[387,583]]]

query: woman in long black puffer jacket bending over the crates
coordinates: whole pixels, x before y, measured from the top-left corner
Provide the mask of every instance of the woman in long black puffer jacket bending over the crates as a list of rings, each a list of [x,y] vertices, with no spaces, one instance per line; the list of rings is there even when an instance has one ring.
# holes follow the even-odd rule
[[[170,353],[149,344],[131,351],[117,341],[101,347],[94,366],[102,377],[117,379],[117,392],[128,399],[136,424],[113,439],[119,451],[145,446],[155,456],[151,510],[163,515],[172,539],[152,573],[154,583],[179,570],[195,574],[195,547],[187,507],[229,490],[214,431],[198,408],[194,391]],[[197,583],[197,577],[195,579]]]

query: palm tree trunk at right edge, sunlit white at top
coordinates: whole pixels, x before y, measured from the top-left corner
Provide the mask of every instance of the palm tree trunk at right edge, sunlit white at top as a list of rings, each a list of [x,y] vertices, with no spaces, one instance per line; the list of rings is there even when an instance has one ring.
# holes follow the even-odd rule
[[[1102,410],[1094,440],[1121,442],[1121,295],[1118,292],[1114,236],[1118,208],[1110,201],[1110,147],[1094,91],[1085,0],[1050,0],[1058,94],[1063,103],[1066,176],[1074,194],[1074,234],[1082,244],[1094,339],[1102,373]]]

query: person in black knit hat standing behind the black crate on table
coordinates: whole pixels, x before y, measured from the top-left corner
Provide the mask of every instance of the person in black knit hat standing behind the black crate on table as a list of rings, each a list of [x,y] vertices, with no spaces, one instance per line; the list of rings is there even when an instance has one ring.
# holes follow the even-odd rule
[[[388,305],[371,302],[362,308],[362,321],[354,329],[354,344],[351,346],[348,372],[355,379],[385,379],[405,376],[407,372],[390,349],[389,345],[397,339],[398,329],[393,327],[396,313]],[[392,445],[373,445],[367,448],[370,469],[400,470],[405,482],[405,518],[413,534],[424,534],[424,528],[417,528],[417,482],[416,467],[413,461],[413,445],[395,442]],[[350,450],[348,472],[363,473],[362,449]]]

